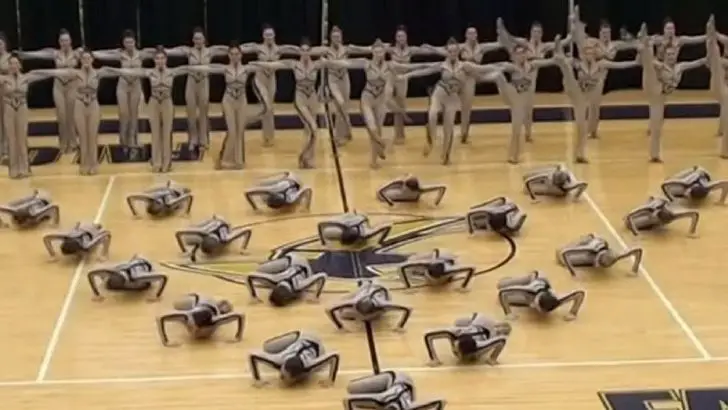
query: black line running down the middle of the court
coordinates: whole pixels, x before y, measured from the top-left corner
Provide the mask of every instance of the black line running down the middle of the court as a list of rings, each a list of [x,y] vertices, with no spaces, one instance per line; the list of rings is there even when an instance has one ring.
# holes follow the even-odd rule
[[[323,78],[323,87],[324,87],[324,99],[327,103],[324,104],[324,112],[326,113],[326,120],[327,120],[327,131],[329,133],[329,143],[331,144],[331,153],[334,156],[334,168],[336,169],[336,179],[338,180],[339,185],[339,196],[341,198],[341,207],[344,212],[349,212],[349,200],[346,195],[346,183],[344,182],[344,174],[341,170],[341,159],[339,157],[339,147],[336,145],[336,140],[334,137],[334,122],[333,122],[333,115],[331,114],[331,110],[328,104],[328,101],[331,100],[331,89],[329,88],[329,81],[328,81],[328,70],[324,70],[321,73],[321,77]],[[361,278],[362,269],[359,265],[359,260],[354,254],[351,255],[352,258],[352,266],[354,269],[354,277],[355,278]],[[361,281],[359,281],[359,284],[361,285]],[[379,355],[377,354],[377,345],[374,340],[374,330],[372,329],[372,324],[370,322],[364,323],[364,331],[366,332],[367,337],[367,346],[369,348],[369,358],[372,364],[372,371],[374,374],[378,374],[380,372],[380,366],[379,366]]]

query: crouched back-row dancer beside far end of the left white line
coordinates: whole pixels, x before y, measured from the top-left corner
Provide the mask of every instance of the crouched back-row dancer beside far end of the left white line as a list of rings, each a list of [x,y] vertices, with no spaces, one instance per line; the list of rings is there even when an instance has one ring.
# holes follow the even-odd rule
[[[194,196],[191,189],[167,181],[164,185],[152,187],[126,197],[126,204],[134,216],[139,216],[134,206],[137,202],[143,202],[147,205],[146,211],[149,216],[166,217],[183,209],[185,214],[189,215],[192,210]]]

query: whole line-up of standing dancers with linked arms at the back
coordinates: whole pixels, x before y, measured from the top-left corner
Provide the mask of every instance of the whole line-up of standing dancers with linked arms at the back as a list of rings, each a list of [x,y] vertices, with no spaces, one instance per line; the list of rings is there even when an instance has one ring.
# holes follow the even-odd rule
[[[677,88],[682,74],[707,65],[711,70],[711,92],[720,101],[721,107],[728,107],[728,54],[721,56],[720,44],[728,44],[728,36],[716,31],[711,16],[706,25],[706,34],[701,36],[678,36],[674,23],[668,21],[663,34],[648,35],[645,25],[636,37],[622,33],[622,39],[612,40],[609,24],[600,27],[599,37],[586,34],[585,25],[579,19],[575,8],[569,17],[571,32],[563,39],[557,36],[553,42],[543,41],[543,31],[534,23],[530,38],[517,38],[506,30],[498,19],[495,42],[479,42],[475,28],[468,28],[464,43],[450,40],[443,47],[428,44],[409,46],[404,27],[397,29],[393,44],[377,40],[371,46],[347,45],[343,33],[334,27],[327,46],[312,46],[302,41],[298,46],[277,45],[272,27],[263,30],[260,44],[233,43],[229,46],[207,46],[202,30],[192,35],[192,46],[171,49],[138,49],[134,33],[127,31],[122,36],[122,47],[117,50],[74,49],[67,31],[59,36],[59,49],[9,52],[7,41],[0,37],[0,90],[3,104],[0,104],[0,157],[6,157],[10,177],[29,176],[30,165],[27,155],[29,86],[37,81],[54,78],[53,97],[56,103],[59,124],[59,142],[63,152],[78,148],[80,173],[98,172],[99,104],[97,93],[102,79],[120,77],[117,86],[120,135],[122,145],[138,144],[138,107],[142,96],[140,80],[145,78],[151,85],[148,115],[151,129],[152,158],[154,172],[168,172],[171,169],[171,131],[174,119],[172,83],[175,77],[187,76],[185,96],[188,116],[188,142],[194,149],[209,147],[208,107],[209,76],[222,75],[226,88],[222,99],[227,133],[222,150],[216,161],[219,169],[242,169],[245,165],[244,134],[246,127],[258,120],[262,122],[263,142],[270,146],[274,141],[274,99],[277,70],[290,70],[296,80],[294,105],[304,124],[305,143],[298,157],[300,168],[314,166],[317,136],[317,116],[320,103],[332,103],[330,126],[335,141],[344,145],[351,140],[350,82],[348,70],[364,70],[366,85],[361,96],[361,115],[371,142],[371,166],[377,167],[386,159],[391,143],[401,144],[405,140],[407,80],[439,73],[441,78],[435,84],[428,107],[427,138],[424,154],[429,155],[437,138],[437,117],[443,114],[443,136],[440,160],[450,163],[453,149],[455,116],[461,114],[460,141],[467,143],[470,135],[470,114],[473,108],[477,82],[494,82],[499,93],[511,111],[512,135],[507,160],[517,163],[525,141],[532,141],[532,113],[536,79],[541,67],[556,65],[563,74],[563,83],[574,111],[576,125],[574,158],[578,163],[587,162],[587,139],[597,138],[599,107],[602,101],[604,82],[609,70],[628,67],[643,67],[643,89],[650,105],[649,158],[661,161],[661,137],[664,120],[664,106],[667,97]],[[705,43],[705,58],[678,62],[683,45]],[[573,44],[579,58],[567,56],[564,46]],[[493,50],[505,49],[510,62],[480,64],[483,56]],[[634,61],[614,61],[620,50],[634,49],[638,57]],[[228,64],[212,64],[212,58],[226,55]],[[257,54],[258,60],[242,63],[244,54]],[[186,56],[188,65],[170,68],[168,56]],[[298,59],[281,59],[284,55],[298,56]],[[371,58],[350,58],[355,55],[371,55]],[[411,63],[413,56],[440,55],[444,62]],[[389,56],[389,59],[387,59]],[[550,56],[547,58],[547,56]],[[318,59],[316,59],[318,57]],[[24,59],[51,59],[56,63],[53,70],[22,71]],[[154,68],[142,68],[142,62],[154,60]],[[102,67],[95,69],[94,61],[119,61],[121,68]],[[319,75],[321,74],[321,75]],[[262,109],[253,115],[247,110],[246,84],[253,76],[254,90],[258,94]],[[325,79],[328,87],[317,89],[319,77]],[[507,79],[510,78],[510,80]],[[323,93],[320,91],[323,90]],[[323,95],[319,95],[323,94]],[[323,98],[320,98],[323,97]],[[394,137],[387,141],[382,133],[385,114],[394,114]],[[721,109],[718,133],[722,134],[720,156],[728,158],[728,109]],[[76,135],[78,132],[78,135]]]

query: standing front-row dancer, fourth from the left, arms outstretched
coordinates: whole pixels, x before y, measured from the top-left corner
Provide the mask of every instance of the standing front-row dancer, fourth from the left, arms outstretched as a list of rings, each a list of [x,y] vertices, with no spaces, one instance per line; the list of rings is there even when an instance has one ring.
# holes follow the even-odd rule
[[[230,64],[211,64],[188,66],[193,73],[223,74],[225,76],[225,95],[222,97],[222,111],[225,116],[227,133],[222,143],[220,156],[215,164],[217,169],[242,169],[245,166],[245,128],[255,121],[248,116],[248,97],[245,86],[250,74],[260,71],[253,65],[242,64],[240,47],[233,43],[229,50]]]

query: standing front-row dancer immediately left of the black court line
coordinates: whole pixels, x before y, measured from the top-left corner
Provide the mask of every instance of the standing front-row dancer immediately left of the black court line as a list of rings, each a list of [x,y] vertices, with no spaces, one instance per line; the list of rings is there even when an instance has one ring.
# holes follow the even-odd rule
[[[301,122],[303,122],[305,137],[303,149],[301,150],[301,154],[298,156],[298,166],[299,168],[305,169],[314,167],[316,131],[318,130],[316,116],[319,112],[319,99],[318,94],[316,93],[316,79],[318,78],[319,71],[323,67],[323,61],[313,61],[311,59],[311,46],[306,39],[302,41],[298,53],[301,56],[298,61],[252,61],[250,65],[262,67],[265,72],[273,72],[274,70],[293,71],[293,76],[296,79],[296,92],[293,97],[293,106],[296,108],[296,112],[298,113],[298,117],[301,119]],[[273,79],[273,84],[275,86],[275,75],[266,75]]]

